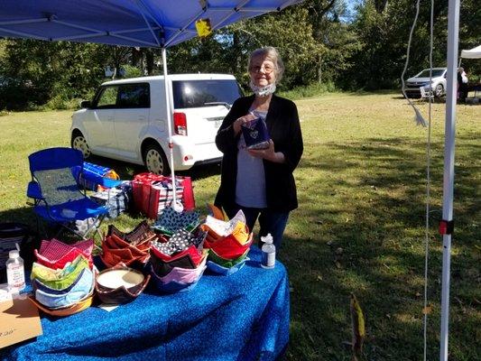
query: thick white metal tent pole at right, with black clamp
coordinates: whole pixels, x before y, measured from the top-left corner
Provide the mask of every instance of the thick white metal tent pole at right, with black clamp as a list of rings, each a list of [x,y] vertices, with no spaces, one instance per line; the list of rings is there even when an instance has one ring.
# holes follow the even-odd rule
[[[454,141],[456,135],[456,101],[458,95],[458,32],[459,0],[449,0],[448,7],[448,83],[444,145],[444,176],[442,219],[453,220]],[[451,262],[451,231],[442,236],[441,334],[439,360],[448,360],[449,336],[449,277]]]

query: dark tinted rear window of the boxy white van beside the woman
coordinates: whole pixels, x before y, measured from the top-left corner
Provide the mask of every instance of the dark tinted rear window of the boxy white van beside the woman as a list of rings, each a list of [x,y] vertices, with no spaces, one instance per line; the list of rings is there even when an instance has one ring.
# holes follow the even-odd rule
[[[174,108],[232,105],[242,91],[234,79],[172,81]]]

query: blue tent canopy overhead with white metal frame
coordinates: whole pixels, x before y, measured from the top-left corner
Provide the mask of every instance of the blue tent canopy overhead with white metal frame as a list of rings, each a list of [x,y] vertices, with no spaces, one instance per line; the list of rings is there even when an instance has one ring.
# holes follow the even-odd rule
[[[2,0],[0,37],[168,48],[302,0]]]

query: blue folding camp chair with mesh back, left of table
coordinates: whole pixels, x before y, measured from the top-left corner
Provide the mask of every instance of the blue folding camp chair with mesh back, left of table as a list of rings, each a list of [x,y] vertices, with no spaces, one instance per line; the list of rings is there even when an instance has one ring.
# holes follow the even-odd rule
[[[89,199],[85,190],[79,188],[82,153],[71,148],[49,148],[28,158],[32,181],[28,184],[27,197],[34,199],[33,211],[37,218],[60,225],[84,239],[92,231],[99,234],[98,227],[108,209]],[[90,218],[93,220],[87,222],[86,229],[76,229],[76,221]]]

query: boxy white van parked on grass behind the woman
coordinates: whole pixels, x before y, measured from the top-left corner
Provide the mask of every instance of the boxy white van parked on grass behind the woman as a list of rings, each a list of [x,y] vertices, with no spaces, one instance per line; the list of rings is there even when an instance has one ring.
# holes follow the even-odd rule
[[[169,75],[174,169],[218,162],[217,129],[237,97],[236,78],[226,74]],[[167,107],[162,76],[107,81],[72,116],[71,146],[170,172]]]

